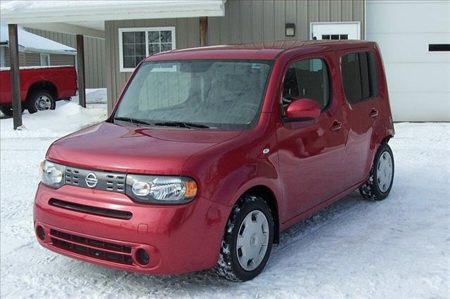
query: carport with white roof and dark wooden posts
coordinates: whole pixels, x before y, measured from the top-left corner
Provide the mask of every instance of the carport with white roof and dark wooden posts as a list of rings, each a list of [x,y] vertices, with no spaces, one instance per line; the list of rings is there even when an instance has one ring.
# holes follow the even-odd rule
[[[77,36],[79,105],[86,107],[84,36],[108,39],[105,21],[199,18],[200,45],[206,45],[207,17],[223,16],[225,0],[205,1],[5,1],[1,21],[8,24],[14,129],[22,126],[17,26]],[[43,16],[45,15],[45,18]],[[110,53],[109,53],[110,54]],[[108,53],[106,53],[108,59]],[[110,75],[106,74],[107,76]]]

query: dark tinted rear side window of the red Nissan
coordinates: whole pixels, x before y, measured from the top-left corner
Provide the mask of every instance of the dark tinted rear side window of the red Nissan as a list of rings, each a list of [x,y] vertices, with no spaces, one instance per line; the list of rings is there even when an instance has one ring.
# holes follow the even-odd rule
[[[342,56],[342,84],[349,102],[358,102],[378,95],[380,84],[375,54],[372,51]]]

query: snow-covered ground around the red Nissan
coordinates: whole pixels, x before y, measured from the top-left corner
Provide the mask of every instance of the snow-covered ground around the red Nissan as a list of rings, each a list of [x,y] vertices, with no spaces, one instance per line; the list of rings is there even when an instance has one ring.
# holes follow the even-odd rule
[[[204,271],[156,277],[65,258],[39,246],[32,225],[38,165],[67,133],[105,119],[105,105],[0,120],[1,297],[33,298],[449,298],[450,124],[396,124],[390,197],[355,192],[283,232],[256,279],[230,283]]]

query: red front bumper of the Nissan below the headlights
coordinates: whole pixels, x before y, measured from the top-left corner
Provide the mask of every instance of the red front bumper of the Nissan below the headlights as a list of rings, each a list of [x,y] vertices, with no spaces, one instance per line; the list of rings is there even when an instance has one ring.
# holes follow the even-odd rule
[[[75,211],[55,206],[51,199],[92,209]],[[117,211],[131,217],[119,218]],[[42,246],[89,263],[148,274],[216,265],[228,215],[229,208],[202,197],[179,206],[155,206],[70,185],[53,190],[39,184],[34,199],[34,228]],[[149,263],[142,263],[140,249],[150,255]]]

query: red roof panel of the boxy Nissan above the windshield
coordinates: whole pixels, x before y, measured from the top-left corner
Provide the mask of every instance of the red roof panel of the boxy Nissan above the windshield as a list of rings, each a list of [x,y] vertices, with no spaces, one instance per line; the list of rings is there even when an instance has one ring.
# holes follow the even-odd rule
[[[158,53],[146,58],[146,61],[176,60],[176,59],[260,59],[274,60],[281,53],[292,49],[311,51],[335,51],[344,48],[371,46],[372,41],[352,40],[316,40],[316,41],[273,41],[264,43],[233,44],[219,46],[203,46],[184,48]]]

